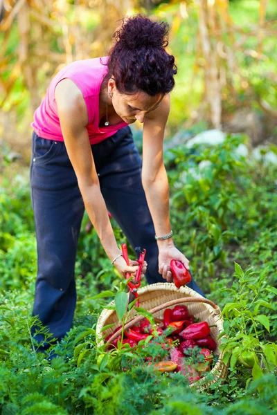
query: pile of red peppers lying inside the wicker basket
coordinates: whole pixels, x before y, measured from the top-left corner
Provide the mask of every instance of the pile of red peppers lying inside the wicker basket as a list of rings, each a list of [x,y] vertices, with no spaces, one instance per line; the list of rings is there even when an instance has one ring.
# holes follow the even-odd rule
[[[166,359],[158,361],[157,356],[146,356],[145,362],[152,365],[154,371],[170,372],[176,371],[186,376],[190,383],[196,382],[206,371],[211,370],[213,364],[213,351],[216,342],[211,338],[210,326],[207,322],[195,322],[188,308],[184,305],[166,308],[163,313],[163,320],[156,319],[159,323],[152,326],[147,318],[141,320],[139,325],[132,326],[132,329],[124,331],[124,344],[129,347],[137,347],[141,340],[152,335],[150,342],[154,342],[161,336],[163,343],[161,347],[168,352]],[[119,327],[116,329],[118,331]],[[108,335],[106,341],[111,338]],[[111,343],[118,347],[121,335]]]

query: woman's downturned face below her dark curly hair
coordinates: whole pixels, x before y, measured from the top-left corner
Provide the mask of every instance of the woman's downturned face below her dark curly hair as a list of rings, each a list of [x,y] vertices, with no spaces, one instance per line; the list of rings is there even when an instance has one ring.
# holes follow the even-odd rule
[[[110,81],[108,88],[109,93],[112,93],[113,96],[109,98],[109,104],[112,104],[114,111],[127,124],[132,124],[136,120],[143,123],[148,113],[159,107],[164,97],[164,94],[152,97],[145,92],[139,92],[134,95],[121,94],[116,89],[115,82],[112,82],[111,86]]]

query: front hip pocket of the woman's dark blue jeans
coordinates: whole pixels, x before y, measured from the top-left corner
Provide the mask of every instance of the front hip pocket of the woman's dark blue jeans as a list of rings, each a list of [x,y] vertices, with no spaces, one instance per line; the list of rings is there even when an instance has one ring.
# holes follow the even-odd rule
[[[39,137],[35,131],[32,141],[32,156],[36,165],[51,160],[59,148],[57,141]]]

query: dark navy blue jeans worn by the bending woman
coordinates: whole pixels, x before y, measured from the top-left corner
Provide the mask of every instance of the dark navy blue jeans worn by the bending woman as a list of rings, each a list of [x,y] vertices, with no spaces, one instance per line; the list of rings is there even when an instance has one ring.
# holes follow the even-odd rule
[[[132,248],[146,249],[148,284],[165,282],[158,272],[154,225],[141,183],[142,160],[129,127],[91,145],[107,209]],[[37,237],[37,280],[33,315],[55,338],[71,329],[76,304],[75,258],[84,203],[64,142],[33,132],[30,192]],[[194,280],[188,284],[202,291]],[[33,333],[35,328],[33,328]],[[37,336],[40,342],[42,335]]]

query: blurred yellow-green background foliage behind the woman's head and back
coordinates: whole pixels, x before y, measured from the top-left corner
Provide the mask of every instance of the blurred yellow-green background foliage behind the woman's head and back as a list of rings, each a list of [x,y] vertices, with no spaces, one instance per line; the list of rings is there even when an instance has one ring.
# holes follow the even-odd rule
[[[0,1],[0,138],[30,142],[53,75],[107,55],[120,19],[137,12],[170,24],[179,71],[166,138],[198,126],[277,141],[275,0]]]

